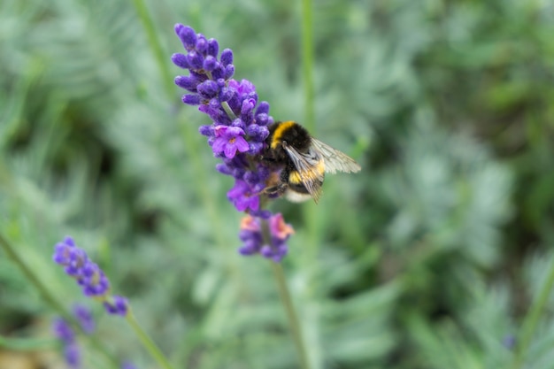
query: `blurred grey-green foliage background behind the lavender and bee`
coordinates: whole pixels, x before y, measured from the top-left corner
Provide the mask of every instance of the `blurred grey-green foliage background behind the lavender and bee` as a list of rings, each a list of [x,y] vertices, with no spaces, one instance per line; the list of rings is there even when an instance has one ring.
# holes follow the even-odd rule
[[[302,123],[301,4],[150,1],[165,68],[135,4],[0,2],[0,234],[68,309],[95,307],[96,335],[139,368],[156,366],[125,322],[51,262],[66,234],[175,367],[296,368],[269,262],[236,252],[233,181],[170,57],[188,24],[235,51],[235,79],[275,119]],[[318,205],[273,204],[296,228],[283,267],[312,367],[508,367],[542,291],[522,358],[553,368],[554,3],[312,10],[312,133],[363,167],[329,176]],[[16,351],[59,367],[33,346],[56,314],[0,250],[0,367]],[[113,367],[83,345],[85,367]]]

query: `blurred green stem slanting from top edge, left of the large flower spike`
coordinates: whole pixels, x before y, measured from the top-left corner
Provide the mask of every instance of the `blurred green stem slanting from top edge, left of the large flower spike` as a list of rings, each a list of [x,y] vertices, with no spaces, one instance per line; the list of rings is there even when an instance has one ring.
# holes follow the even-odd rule
[[[154,53],[156,63],[158,63],[159,71],[162,74],[162,83],[167,90],[167,95],[173,96],[173,78],[169,70],[167,56],[165,55],[164,48],[158,40],[158,34],[156,33],[154,21],[150,17],[150,12],[146,7],[146,4],[144,4],[144,1],[133,0],[133,4],[135,5],[135,10],[138,14],[139,19],[141,19],[142,27],[144,27],[144,32],[146,32],[146,38],[148,39],[148,43],[150,44],[150,49]]]

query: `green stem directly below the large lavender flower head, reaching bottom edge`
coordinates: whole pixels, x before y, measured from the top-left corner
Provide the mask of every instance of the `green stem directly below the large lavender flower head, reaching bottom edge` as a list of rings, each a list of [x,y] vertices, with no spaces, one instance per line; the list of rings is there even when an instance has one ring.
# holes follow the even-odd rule
[[[295,342],[296,352],[300,359],[300,367],[303,369],[310,369],[310,364],[308,360],[308,352],[304,345],[304,338],[302,336],[302,327],[300,326],[300,321],[296,316],[295,307],[292,304],[292,298],[290,297],[289,287],[287,286],[287,281],[285,280],[285,274],[281,264],[271,262],[273,269],[273,276],[275,281],[277,281],[277,286],[279,287],[279,295],[281,296],[281,302],[287,312],[287,319],[289,319],[289,327],[292,331],[292,338]]]

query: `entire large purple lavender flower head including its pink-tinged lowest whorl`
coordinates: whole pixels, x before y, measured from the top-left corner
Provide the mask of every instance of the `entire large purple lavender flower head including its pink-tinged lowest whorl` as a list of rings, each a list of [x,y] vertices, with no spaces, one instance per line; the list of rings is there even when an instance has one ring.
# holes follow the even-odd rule
[[[186,53],[173,54],[173,63],[189,71],[178,76],[175,84],[187,90],[184,104],[198,106],[198,110],[212,119],[212,124],[199,127],[208,139],[213,155],[221,160],[216,165],[219,173],[233,176],[235,186],[227,192],[227,199],[237,211],[249,215],[242,220],[239,252],[242,255],[259,254],[280,262],[287,255],[287,240],[294,231],[281,214],[265,209],[272,197],[264,193],[265,183],[275,175],[273,168],[260,159],[273,123],[269,104],[258,101],[255,86],[247,80],[235,81],[233,51],[222,50],[219,43],[189,26],[177,24],[175,33],[181,39]],[[265,236],[265,222],[270,222]]]

